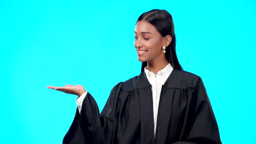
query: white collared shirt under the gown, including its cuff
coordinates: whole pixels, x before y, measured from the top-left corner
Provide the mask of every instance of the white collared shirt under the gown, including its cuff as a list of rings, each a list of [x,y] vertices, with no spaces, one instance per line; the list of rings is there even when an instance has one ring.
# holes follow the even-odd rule
[[[171,66],[170,63],[167,64],[164,69],[159,70],[156,75],[152,71],[147,70],[147,68],[144,68],[144,72],[146,73],[147,79],[150,85],[152,85],[152,98],[153,98],[153,110],[154,110],[154,134],[156,132],[156,123],[158,120],[157,119],[158,106],[159,106],[162,85],[164,85],[165,81],[172,73],[172,70],[173,70],[173,67]],[[82,110],[83,101],[87,93],[88,92],[85,92],[80,97],[77,98],[77,106],[78,106],[79,113]]]

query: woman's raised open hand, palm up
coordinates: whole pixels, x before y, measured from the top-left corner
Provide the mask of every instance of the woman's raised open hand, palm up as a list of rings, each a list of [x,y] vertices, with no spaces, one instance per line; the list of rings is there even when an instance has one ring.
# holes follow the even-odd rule
[[[65,87],[47,86],[46,88],[55,89],[57,91],[74,94],[74,95],[78,95],[78,96],[80,96],[86,92],[82,85],[72,86],[72,85],[67,84]]]

